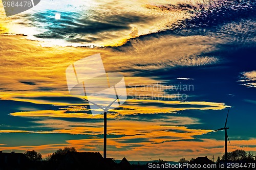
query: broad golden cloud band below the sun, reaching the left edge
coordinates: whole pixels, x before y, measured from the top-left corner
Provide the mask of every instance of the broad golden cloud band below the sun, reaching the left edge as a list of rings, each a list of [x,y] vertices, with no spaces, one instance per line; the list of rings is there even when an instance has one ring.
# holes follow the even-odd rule
[[[2,72],[0,79],[3,82],[0,88],[5,93],[8,91],[10,93],[54,91],[54,93],[68,94],[65,76],[67,66],[96,53],[102,54],[106,71],[122,72],[126,85],[146,82],[152,85],[159,82],[154,80],[157,77],[139,76],[137,78],[139,72],[143,71],[219,62],[217,57],[208,57],[203,54],[217,50],[215,44],[220,41],[204,36],[159,36],[143,41],[134,39],[129,46],[105,49],[41,47],[40,42],[28,41],[22,36],[2,35],[1,40],[4,43],[1,43],[0,47],[2,50],[0,61],[3,63],[0,68]],[[19,57],[15,57],[16,55]]]

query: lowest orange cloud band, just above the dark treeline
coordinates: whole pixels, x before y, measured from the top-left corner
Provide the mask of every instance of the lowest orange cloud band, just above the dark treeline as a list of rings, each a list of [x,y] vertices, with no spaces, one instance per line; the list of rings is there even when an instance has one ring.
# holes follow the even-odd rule
[[[25,152],[27,150],[35,150],[38,152],[44,152],[44,156],[53,153],[59,148],[64,147],[75,147],[79,152],[98,152],[98,147],[102,148],[103,139],[80,139],[80,140],[67,140],[67,143],[63,144],[46,144],[38,146],[19,146],[19,147],[4,147],[4,144],[0,144],[0,150],[10,152],[19,151]],[[232,143],[228,146],[228,152],[236,149],[242,149],[247,152],[256,152],[255,147],[256,139],[250,140],[232,140]],[[114,139],[108,139],[108,145],[117,144]],[[196,158],[198,156],[207,156],[211,158],[212,155],[215,157],[222,156],[225,152],[224,141],[215,139],[202,139],[202,141],[172,141],[165,143],[158,143],[152,145],[146,145],[147,143],[140,143],[140,147],[132,147],[129,143],[121,145],[121,147],[127,147],[129,149],[123,150],[117,148],[116,150],[108,149],[108,157],[115,159],[122,159],[124,156],[128,160],[145,160],[148,161],[157,160],[159,158],[169,161],[178,161],[184,157],[187,160]],[[247,144],[248,147],[244,147]],[[1,147],[1,145],[3,147]],[[102,154],[102,152],[100,151]]]

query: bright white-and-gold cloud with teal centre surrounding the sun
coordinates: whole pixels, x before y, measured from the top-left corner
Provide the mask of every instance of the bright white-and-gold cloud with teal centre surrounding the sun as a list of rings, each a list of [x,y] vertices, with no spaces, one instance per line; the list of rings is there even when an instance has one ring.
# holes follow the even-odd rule
[[[15,22],[19,29],[11,26],[9,31],[27,34],[29,39],[43,40],[48,46],[115,46],[130,38],[166,30],[178,20],[191,17],[182,9],[170,12],[145,8],[144,5],[150,2],[112,0],[78,4],[62,1],[60,4],[48,0],[19,14],[18,18],[10,17],[8,20]],[[56,13],[61,15],[61,19],[54,19]]]

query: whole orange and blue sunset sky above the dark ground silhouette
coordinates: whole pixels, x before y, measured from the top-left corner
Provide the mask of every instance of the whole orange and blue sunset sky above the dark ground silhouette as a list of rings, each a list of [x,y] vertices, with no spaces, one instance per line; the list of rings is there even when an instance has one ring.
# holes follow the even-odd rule
[[[41,0],[10,17],[0,2],[0,151],[103,155],[103,115],[66,82],[100,53],[127,91],[108,113],[108,157],[222,156],[225,133],[211,131],[228,109],[228,151],[256,153],[254,1]]]

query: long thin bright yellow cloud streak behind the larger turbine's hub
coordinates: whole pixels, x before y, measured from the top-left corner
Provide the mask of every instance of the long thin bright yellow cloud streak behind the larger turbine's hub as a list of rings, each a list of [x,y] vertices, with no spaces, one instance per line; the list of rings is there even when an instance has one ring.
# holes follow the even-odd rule
[[[53,104],[53,103],[52,103]],[[49,105],[52,105],[49,104]],[[56,103],[58,104],[58,102]],[[47,104],[46,104],[47,106]],[[35,107],[35,106],[34,106]],[[122,115],[131,114],[156,114],[174,113],[182,110],[222,110],[229,106],[224,103],[213,102],[184,102],[184,101],[155,101],[155,100],[127,100],[123,109],[113,110],[109,118],[116,118]],[[102,118],[103,115],[88,114],[87,107],[78,106],[57,106],[56,110],[36,110],[10,113],[12,116],[22,117],[73,117],[73,118]],[[100,110],[99,110],[100,111]]]

